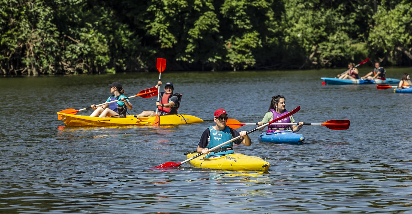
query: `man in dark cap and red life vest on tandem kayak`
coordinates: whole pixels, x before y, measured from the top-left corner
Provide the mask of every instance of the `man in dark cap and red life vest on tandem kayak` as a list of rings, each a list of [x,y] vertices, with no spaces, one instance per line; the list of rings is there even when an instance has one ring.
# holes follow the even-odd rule
[[[158,81],[156,88],[159,89],[159,86],[162,85],[162,81]],[[160,93],[160,100],[156,102],[158,109],[157,115],[166,115],[166,114],[177,114],[179,107],[179,97],[178,94],[173,94],[173,84],[171,82],[166,82],[164,86],[164,92]],[[156,116],[154,111],[143,111],[140,114],[137,114],[136,117],[147,117],[147,116]]]

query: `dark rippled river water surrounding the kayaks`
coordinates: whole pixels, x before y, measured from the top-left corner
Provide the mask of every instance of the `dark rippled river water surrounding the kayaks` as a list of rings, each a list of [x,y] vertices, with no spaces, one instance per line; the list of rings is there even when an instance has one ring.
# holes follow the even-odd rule
[[[412,94],[376,85],[323,86],[341,70],[169,72],[183,94],[180,113],[203,123],[171,127],[65,127],[56,112],[104,102],[108,84],[126,95],[156,84],[159,73],[0,78],[1,213],[412,213]],[[361,74],[368,66],[361,66]],[[387,68],[400,79],[411,68]],[[192,167],[215,109],[243,123],[260,121],[273,95],[297,121],[349,119],[349,130],[304,126],[303,145],[258,142],[235,151],[260,156],[268,173]],[[133,98],[131,114],[155,110]],[[91,111],[79,112],[88,115]],[[243,126],[238,130],[252,130]]]

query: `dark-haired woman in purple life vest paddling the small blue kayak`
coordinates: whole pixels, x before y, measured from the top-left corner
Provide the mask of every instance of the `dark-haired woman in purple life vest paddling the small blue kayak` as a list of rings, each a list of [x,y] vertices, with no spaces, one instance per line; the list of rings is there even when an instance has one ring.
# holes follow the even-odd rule
[[[270,102],[269,110],[267,110],[265,116],[263,116],[262,121],[258,122],[258,126],[262,126],[265,123],[269,123],[269,121],[272,121],[274,118],[278,118],[282,115],[288,114],[288,111],[286,110],[286,99],[282,95],[276,95],[272,97],[272,101]],[[293,116],[289,116],[288,118],[282,119],[280,121],[275,121],[271,123],[267,129],[267,133],[275,133],[275,132],[280,132],[280,131],[293,131],[293,132],[298,132],[304,122],[299,122],[297,126],[295,125],[276,125],[276,123],[295,123],[295,119],[293,119]],[[259,130],[263,130],[264,128],[261,128]]]

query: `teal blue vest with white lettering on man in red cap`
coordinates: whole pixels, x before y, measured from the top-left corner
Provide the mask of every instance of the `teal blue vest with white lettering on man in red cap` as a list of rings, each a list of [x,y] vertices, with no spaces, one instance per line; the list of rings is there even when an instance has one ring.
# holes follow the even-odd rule
[[[207,145],[208,149],[211,149],[215,146],[218,146],[219,144],[222,144],[228,140],[232,139],[232,133],[230,133],[229,126],[226,126],[223,131],[216,131],[212,128],[212,126],[209,126],[209,132],[210,132],[210,141],[209,144]],[[233,142],[227,143],[222,147],[233,147]],[[219,151],[217,153],[211,152],[210,154],[206,155],[206,158],[209,158],[210,156],[222,156],[222,155],[227,155],[227,154],[233,154],[234,151],[228,150],[228,151]]]

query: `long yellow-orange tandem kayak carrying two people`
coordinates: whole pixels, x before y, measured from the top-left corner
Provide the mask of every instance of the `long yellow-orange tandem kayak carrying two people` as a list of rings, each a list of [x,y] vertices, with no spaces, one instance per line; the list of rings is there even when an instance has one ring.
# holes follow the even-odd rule
[[[152,125],[155,116],[152,117],[134,117],[126,115],[124,118],[119,117],[91,117],[76,114],[66,114],[57,112],[61,115],[66,126],[147,126]],[[179,125],[186,123],[201,123],[202,119],[186,114],[169,114],[159,116],[159,124],[162,125]]]

